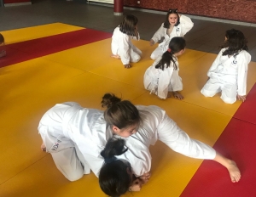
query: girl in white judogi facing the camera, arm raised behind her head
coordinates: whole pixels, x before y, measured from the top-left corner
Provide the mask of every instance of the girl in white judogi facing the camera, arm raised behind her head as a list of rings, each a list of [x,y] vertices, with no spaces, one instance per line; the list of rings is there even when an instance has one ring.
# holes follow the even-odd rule
[[[158,48],[151,54],[151,59],[157,59],[168,49],[169,42],[172,37],[183,37],[193,27],[194,23],[189,17],[178,14],[177,8],[169,9],[166,14],[166,21],[160,26],[159,30],[149,41],[150,46],[159,42],[162,37],[164,40],[158,45]]]

